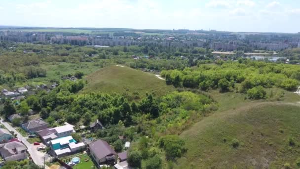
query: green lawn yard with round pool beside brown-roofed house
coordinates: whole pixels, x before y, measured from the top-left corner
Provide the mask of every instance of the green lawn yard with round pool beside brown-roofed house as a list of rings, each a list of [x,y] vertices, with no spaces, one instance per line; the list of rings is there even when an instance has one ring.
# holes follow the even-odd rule
[[[73,169],[97,169],[97,167],[94,165],[93,161],[91,160],[91,158],[85,153],[85,154],[81,154],[78,156],[73,156],[72,158],[67,158],[62,160],[65,163],[70,162],[74,157],[79,157],[80,162],[78,164],[76,164],[75,166],[73,166]],[[88,161],[86,162],[85,160],[88,159]]]

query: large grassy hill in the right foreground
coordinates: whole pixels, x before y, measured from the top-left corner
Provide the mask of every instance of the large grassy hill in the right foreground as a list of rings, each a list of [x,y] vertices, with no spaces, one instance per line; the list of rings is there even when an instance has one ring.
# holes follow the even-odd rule
[[[299,168],[299,110],[298,103],[253,102],[213,114],[181,134],[188,151],[176,168],[280,169],[286,163]]]

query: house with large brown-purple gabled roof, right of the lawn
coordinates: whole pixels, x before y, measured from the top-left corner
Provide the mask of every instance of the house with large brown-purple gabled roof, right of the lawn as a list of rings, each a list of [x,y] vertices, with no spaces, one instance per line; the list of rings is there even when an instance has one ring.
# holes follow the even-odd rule
[[[89,144],[90,154],[98,166],[102,164],[114,163],[116,153],[112,147],[104,140],[97,140]]]

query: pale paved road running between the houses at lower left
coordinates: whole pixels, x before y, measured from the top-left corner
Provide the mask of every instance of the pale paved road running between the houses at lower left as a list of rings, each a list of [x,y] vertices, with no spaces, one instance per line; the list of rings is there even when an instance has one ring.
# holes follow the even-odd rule
[[[11,127],[8,123],[6,123],[5,121],[3,121],[2,118],[0,118],[0,123],[2,125],[4,125],[9,131],[13,131],[15,134],[17,134],[17,137],[19,140],[21,140],[21,134],[16,130],[14,129],[13,127]],[[38,151],[37,150],[37,147],[34,146],[33,144],[30,144],[26,138],[22,137],[22,140],[23,144],[26,145],[26,147],[28,148],[28,152],[31,156],[31,158],[33,159],[33,161],[39,165],[39,166],[44,166],[44,157],[45,157],[45,153],[41,152],[41,151]],[[46,160],[48,159],[48,156],[46,155]],[[49,169],[47,166],[46,166],[46,169]]]

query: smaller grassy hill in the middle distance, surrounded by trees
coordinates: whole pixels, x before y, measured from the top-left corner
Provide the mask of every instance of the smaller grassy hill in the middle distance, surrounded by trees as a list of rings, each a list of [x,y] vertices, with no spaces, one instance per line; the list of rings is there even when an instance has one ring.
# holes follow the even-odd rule
[[[166,85],[164,80],[158,79],[153,74],[116,65],[100,69],[87,76],[86,80],[88,84],[81,93],[92,91],[122,93],[127,90],[128,93],[146,94],[146,92],[154,92],[161,95],[175,90],[173,86]]]

